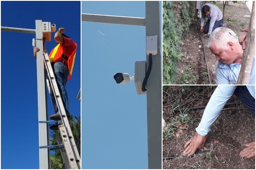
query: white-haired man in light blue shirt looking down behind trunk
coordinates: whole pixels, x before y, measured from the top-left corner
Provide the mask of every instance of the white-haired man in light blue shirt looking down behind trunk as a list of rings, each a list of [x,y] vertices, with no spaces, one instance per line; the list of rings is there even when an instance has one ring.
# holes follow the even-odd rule
[[[216,83],[218,85],[228,85],[230,82],[236,84],[239,76],[243,49],[239,40],[234,36],[236,34],[231,29],[224,27],[216,28],[209,36],[207,47],[218,61],[216,68]],[[255,58],[253,59],[249,85],[255,85]]]

